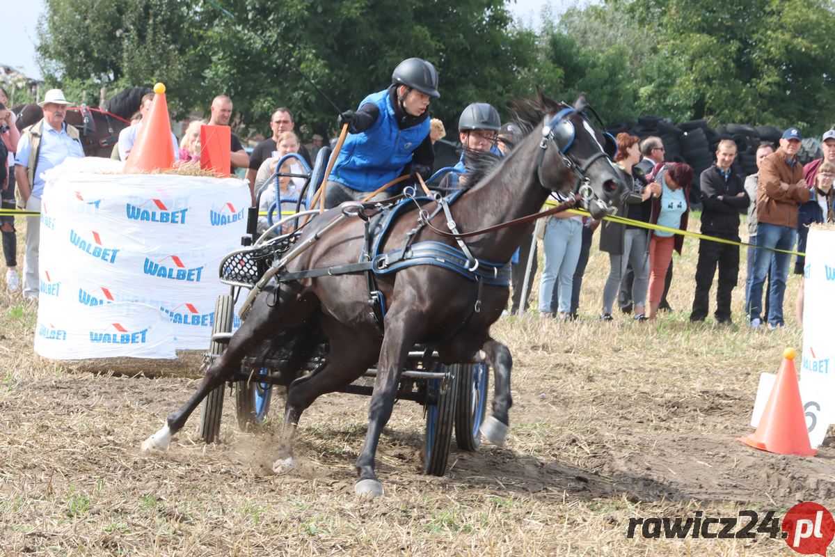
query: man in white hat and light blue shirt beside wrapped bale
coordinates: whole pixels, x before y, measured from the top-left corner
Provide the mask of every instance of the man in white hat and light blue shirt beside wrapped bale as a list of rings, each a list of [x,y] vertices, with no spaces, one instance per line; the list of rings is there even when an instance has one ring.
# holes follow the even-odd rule
[[[49,89],[38,103],[43,119],[23,129],[15,154],[14,177],[18,182],[18,208],[40,211],[43,195],[43,172],[57,166],[67,157],[83,157],[84,150],[78,130],[64,122],[71,103],[63,98],[61,89]],[[28,216],[26,222],[26,255],[23,258],[23,297],[38,299],[38,244],[40,218]]]

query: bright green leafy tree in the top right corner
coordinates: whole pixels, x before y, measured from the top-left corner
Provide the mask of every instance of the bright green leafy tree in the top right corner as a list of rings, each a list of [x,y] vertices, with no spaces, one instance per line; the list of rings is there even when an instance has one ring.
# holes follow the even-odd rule
[[[678,66],[666,74],[664,102],[718,122],[813,133],[832,122],[831,0],[634,0],[629,13],[656,33],[657,57]]]

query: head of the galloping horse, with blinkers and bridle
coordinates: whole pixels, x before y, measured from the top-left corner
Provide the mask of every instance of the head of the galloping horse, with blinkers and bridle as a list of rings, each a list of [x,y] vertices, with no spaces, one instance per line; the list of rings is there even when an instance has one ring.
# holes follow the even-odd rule
[[[579,193],[595,218],[615,212],[625,182],[612,163],[615,138],[595,129],[586,114],[590,111],[600,120],[595,109],[584,94],[569,106],[537,91],[537,102],[546,114],[537,157],[542,185],[564,195]]]

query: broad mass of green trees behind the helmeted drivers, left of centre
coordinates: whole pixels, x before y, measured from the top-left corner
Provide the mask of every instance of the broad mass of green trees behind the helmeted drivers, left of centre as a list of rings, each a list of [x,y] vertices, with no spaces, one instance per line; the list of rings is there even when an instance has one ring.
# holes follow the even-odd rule
[[[536,84],[561,83],[504,0],[123,0],[106,9],[100,0],[48,0],[41,36],[53,82],[93,90],[163,81],[180,112],[206,111],[215,94],[228,94],[239,121],[265,134],[279,105],[320,132],[335,125],[337,110],[296,67],[353,109],[390,83],[403,58],[427,58],[443,95],[433,115],[453,126],[470,102],[504,109]]]

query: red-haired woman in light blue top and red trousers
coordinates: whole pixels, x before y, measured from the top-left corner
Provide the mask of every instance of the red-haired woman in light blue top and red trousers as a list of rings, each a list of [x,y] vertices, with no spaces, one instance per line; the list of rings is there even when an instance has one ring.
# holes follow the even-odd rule
[[[693,169],[685,163],[659,163],[650,174],[661,186],[661,195],[652,200],[650,223],[668,229],[687,230],[687,211],[690,210],[690,185]],[[650,301],[650,319],[655,319],[664,277],[675,249],[681,256],[684,236],[671,230],[653,230],[650,239],[650,286],[646,297]]]

